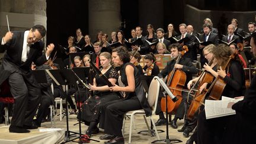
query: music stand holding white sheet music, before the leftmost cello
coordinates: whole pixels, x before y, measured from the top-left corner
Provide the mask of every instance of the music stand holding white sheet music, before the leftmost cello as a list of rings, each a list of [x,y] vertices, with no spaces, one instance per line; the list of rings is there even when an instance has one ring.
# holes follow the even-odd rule
[[[159,83],[160,83],[160,85],[161,85],[161,87],[162,87],[162,89],[164,89],[163,91],[164,91],[164,93],[165,93],[165,97],[168,97],[168,95],[169,95],[169,97],[171,98],[171,100],[175,103],[176,101],[178,101],[178,98],[177,97],[175,97],[173,94],[172,94],[172,92],[169,90],[169,88],[167,87],[167,85],[165,84],[165,82],[161,79],[161,78],[159,78],[158,76],[155,76],[155,79],[157,79],[158,81],[159,81]],[[169,143],[171,143],[171,142],[174,142],[174,143],[179,143],[179,142],[183,142],[183,141],[181,141],[181,140],[179,140],[179,139],[169,139],[169,135],[168,135],[168,133],[169,133],[169,131],[168,131],[168,113],[167,113],[167,111],[168,111],[168,107],[167,107],[167,99],[168,98],[165,98],[165,108],[166,108],[166,117],[167,117],[167,119],[166,119],[166,121],[167,121],[167,123],[166,123],[166,129],[167,129],[167,132],[166,132],[166,139],[161,139],[161,140],[154,140],[153,142],[151,142],[151,143],[167,143],[167,144],[169,144]]]

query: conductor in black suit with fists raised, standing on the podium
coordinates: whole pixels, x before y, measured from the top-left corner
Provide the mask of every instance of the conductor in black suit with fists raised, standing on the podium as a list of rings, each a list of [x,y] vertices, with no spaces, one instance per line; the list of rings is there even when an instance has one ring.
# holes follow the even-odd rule
[[[31,72],[30,66],[43,65],[54,49],[49,44],[43,54],[44,43],[41,39],[46,35],[43,25],[34,25],[27,31],[9,31],[0,37],[0,52],[5,52],[0,68],[0,84],[7,80],[14,97],[13,114],[9,132],[28,133],[33,127],[32,120],[39,106],[41,93],[39,85]]]

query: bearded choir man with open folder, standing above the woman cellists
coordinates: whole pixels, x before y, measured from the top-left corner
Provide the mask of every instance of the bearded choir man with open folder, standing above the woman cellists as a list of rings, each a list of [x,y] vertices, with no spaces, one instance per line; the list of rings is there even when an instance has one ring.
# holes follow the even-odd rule
[[[212,44],[219,44],[219,37],[216,33],[212,33],[212,26],[210,24],[203,24],[203,34],[201,34],[199,36],[200,41],[210,41],[210,43]],[[200,57],[200,62],[201,62],[201,66],[204,65],[204,63],[207,62],[207,60],[205,59],[205,57],[203,56],[203,48],[206,47],[202,44],[199,45],[199,54],[201,55]]]

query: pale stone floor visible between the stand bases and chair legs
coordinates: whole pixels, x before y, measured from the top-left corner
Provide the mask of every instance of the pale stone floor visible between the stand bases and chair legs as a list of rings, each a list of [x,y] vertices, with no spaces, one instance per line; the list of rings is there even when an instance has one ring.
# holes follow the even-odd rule
[[[158,116],[153,116],[153,119],[155,121],[158,120]],[[69,130],[72,132],[78,132],[79,133],[79,124],[77,119],[76,119],[76,115],[75,114],[71,114],[69,116]],[[76,124],[75,126],[73,124]],[[124,132],[124,140],[125,143],[128,143],[128,139],[129,139],[129,124],[130,124],[130,120],[127,119],[126,123],[125,123],[125,132]],[[178,129],[180,129],[183,126],[183,120],[181,121],[177,121],[177,125],[178,125]],[[0,124],[0,127],[4,126],[4,124]],[[46,122],[46,123],[42,123],[41,124],[42,127],[50,127],[51,124],[50,122]],[[56,128],[62,128],[64,130],[66,130],[66,117],[64,117],[64,119],[62,119],[62,121],[59,120],[59,116],[55,116],[55,127]],[[187,141],[187,137],[183,136],[183,133],[177,132],[178,129],[173,129],[172,127],[168,127],[169,128],[169,139],[179,139],[182,140],[183,142],[180,143],[185,143]],[[157,129],[161,129],[164,130],[164,133],[159,133],[159,137],[160,139],[166,139],[166,126],[158,126]],[[85,133],[85,130],[87,130],[87,126],[85,126],[85,124],[81,124],[81,130],[82,133]],[[149,135],[149,133],[144,133],[144,134],[137,134],[137,132],[139,132],[140,130],[146,130],[146,124],[145,121],[143,120],[142,116],[136,116],[135,117],[135,129],[132,130],[132,143],[135,144],[139,144],[139,143],[151,143],[153,142],[153,140],[156,140],[156,137],[152,137],[151,135]],[[190,133],[191,135],[192,133]],[[100,129],[100,133],[98,133],[97,135],[93,135],[91,138],[95,139],[95,140],[100,140],[99,137],[104,135],[104,130]],[[77,137],[79,135],[76,135]],[[71,137],[72,138],[75,138]],[[78,140],[78,139],[76,139]],[[68,142],[68,143],[76,143],[76,142]],[[91,140],[91,143],[104,143],[104,140],[100,140],[100,142],[94,142]]]

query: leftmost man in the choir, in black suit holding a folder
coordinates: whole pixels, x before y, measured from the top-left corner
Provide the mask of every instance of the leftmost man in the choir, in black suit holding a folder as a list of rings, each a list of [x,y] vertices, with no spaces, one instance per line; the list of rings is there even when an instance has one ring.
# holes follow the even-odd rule
[[[149,44],[148,42],[146,41],[146,37],[142,36],[142,27],[140,26],[137,26],[136,29],[135,29],[135,32],[136,32],[136,37],[131,39],[131,43],[137,39],[141,39],[143,44],[142,46],[132,46],[132,50],[137,50],[139,49],[139,53],[140,55],[146,55],[149,53]]]

